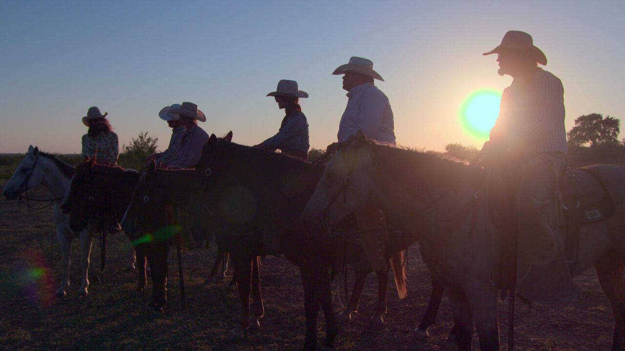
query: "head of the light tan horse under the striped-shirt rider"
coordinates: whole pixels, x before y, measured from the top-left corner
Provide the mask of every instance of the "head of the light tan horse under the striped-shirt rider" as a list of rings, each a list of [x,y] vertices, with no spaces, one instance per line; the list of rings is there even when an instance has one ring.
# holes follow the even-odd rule
[[[337,147],[302,212],[309,229],[319,232],[323,221],[336,224],[366,204],[375,168],[372,161],[371,142],[361,132]]]

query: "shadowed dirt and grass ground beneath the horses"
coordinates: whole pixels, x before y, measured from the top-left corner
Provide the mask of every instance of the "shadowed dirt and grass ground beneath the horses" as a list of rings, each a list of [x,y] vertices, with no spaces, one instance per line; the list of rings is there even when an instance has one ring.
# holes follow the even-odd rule
[[[100,249],[94,243],[89,296],[78,299],[79,247],[74,242],[71,288],[56,299],[60,282],[60,252],[54,239],[51,210],[28,211],[16,202],[0,200],[0,349],[6,350],[298,350],[304,340],[304,307],[296,267],[285,259],[267,257],[261,267],[266,308],[261,329],[246,339],[224,341],[237,320],[236,290],[227,280],[202,285],[216,255],[211,249],[184,252],[187,309],[180,310],[178,276],[172,274],[170,305],[156,315],[134,294],[136,272],[126,268],[129,243],[124,235],[109,236],[108,260],[99,269]],[[170,252],[171,272],[177,272]],[[384,329],[367,328],[376,299],[376,279],[370,275],[360,313],[341,328],[341,350],[443,350],[452,327],[449,303],[443,299],[437,324],[427,342],[410,337],[426,309],[431,289],[429,273],[415,246],[409,250],[409,297],[398,300],[389,279],[388,313]],[[231,273],[229,273],[229,277]],[[353,273],[349,277],[350,287]],[[148,283],[148,292],[151,287]],[[517,300],[517,350],[609,350],[613,322],[609,302],[593,270],[576,277],[579,297],[571,304],[532,305]],[[507,304],[499,305],[502,349],[506,349]],[[324,335],[322,314],[319,336]],[[474,349],[479,349],[477,337]]]

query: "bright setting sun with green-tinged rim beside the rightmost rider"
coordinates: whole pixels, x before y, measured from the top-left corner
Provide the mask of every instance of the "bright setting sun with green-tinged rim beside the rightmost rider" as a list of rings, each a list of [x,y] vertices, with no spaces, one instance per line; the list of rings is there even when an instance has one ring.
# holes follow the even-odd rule
[[[487,139],[499,115],[501,92],[484,89],[471,94],[462,104],[460,119],[464,130],[479,139]]]

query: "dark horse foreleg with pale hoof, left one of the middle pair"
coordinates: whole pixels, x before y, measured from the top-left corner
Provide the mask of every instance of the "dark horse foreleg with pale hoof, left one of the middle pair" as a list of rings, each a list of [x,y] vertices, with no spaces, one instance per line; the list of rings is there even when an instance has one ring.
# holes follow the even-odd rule
[[[230,331],[226,337],[227,341],[241,340],[249,329],[249,294],[252,290],[252,260],[246,257],[235,257],[233,259],[234,273],[237,276],[237,290],[239,290],[239,300],[241,302],[241,316],[239,325]]]

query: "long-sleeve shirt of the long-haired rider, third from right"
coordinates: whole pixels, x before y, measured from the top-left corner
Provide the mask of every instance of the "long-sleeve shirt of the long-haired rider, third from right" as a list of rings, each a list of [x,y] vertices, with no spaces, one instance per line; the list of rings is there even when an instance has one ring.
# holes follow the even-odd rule
[[[302,112],[284,116],[276,135],[261,142],[259,147],[269,151],[280,149],[282,152],[299,151],[308,154],[310,147],[308,139],[308,122]]]

